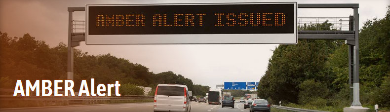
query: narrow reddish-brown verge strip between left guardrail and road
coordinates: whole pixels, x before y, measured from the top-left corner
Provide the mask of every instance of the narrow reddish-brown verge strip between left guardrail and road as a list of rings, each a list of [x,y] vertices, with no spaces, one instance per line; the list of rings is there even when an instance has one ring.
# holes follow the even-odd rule
[[[145,102],[153,102],[153,100],[107,100],[107,101],[95,101],[95,103],[79,102],[77,104],[71,104],[67,101],[1,101],[0,109],[69,106],[69,105],[93,105],[93,104],[145,103]]]

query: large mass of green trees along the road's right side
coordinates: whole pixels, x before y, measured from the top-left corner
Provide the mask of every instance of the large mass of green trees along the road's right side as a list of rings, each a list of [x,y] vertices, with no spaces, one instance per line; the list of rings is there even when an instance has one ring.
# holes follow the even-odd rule
[[[325,22],[302,30],[333,29]],[[360,102],[373,111],[390,109],[390,6],[386,17],[364,23],[359,31]],[[344,40],[298,40],[279,45],[261,78],[258,94],[273,105],[342,112],[351,106],[348,45]],[[277,112],[277,111],[275,111]]]

